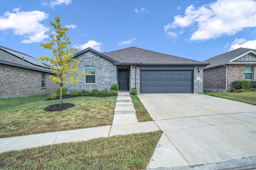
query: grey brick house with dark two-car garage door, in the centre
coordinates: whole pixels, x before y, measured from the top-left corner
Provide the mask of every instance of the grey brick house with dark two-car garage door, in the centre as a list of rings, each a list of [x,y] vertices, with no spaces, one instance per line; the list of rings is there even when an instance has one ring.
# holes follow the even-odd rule
[[[91,48],[75,56],[79,70],[90,72],[82,76],[78,85],[68,85],[68,91],[110,90],[118,84],[119,90],[138,93],[196,93],[203,92],[203,66],[199,61],[175,57],[129,47],[108,53],[99,53]]]

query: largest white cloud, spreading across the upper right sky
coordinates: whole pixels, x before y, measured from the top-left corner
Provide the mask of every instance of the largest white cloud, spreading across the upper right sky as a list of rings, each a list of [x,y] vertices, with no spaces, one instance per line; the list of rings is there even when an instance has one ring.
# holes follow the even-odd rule
[[[191,41],[234,35],[244,28],[256,27],[255,9],[254,0],[218,0],[198,8],[191,5],[186,8],[184,16],[177,15],[172,23],[165,25],[164,31],[192,27],[195,31]]]

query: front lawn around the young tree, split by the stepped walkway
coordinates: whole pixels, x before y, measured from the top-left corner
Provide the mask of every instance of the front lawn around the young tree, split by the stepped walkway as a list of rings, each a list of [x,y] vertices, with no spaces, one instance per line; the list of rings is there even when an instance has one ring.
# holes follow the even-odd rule
[[[0,99],[0,138],[112,125],[116,98],[63,99],[76,106],[50,112],[44,108],[60,101],[46,101],[46,95]],[[152,120],[138,96],[132,100],[139,121]]]

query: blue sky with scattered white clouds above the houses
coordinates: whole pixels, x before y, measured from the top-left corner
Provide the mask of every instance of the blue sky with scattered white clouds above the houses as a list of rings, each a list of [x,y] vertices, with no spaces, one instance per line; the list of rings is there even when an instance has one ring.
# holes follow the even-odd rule
[[[0,0],[0,45],[39,58],[60,16],[71,47],[138,47],[204,61],[256,49],[256,0]]]

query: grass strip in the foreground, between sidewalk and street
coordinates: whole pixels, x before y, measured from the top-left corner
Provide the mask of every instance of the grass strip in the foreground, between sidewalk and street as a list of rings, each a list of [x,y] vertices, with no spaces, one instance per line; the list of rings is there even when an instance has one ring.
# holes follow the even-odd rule
[[[162,132],[102,137],[0,154],[0,169],[144,170]]]

